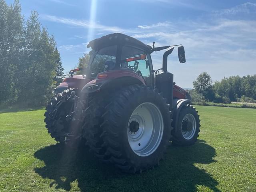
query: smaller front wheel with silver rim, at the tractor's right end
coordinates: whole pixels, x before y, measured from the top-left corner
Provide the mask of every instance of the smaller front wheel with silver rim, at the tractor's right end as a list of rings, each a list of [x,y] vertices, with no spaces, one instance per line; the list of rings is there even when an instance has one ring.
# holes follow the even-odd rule
[[[172,130],[172,143],[178,146],[189,146],[196,142],[200,132],[198,111],[190,104],[182,106],[178,122]]]

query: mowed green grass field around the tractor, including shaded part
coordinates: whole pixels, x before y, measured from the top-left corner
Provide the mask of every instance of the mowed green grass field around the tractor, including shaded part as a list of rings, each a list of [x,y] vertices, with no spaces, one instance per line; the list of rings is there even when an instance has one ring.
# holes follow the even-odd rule
[[[256,110],[196,106],[198,142],[168,148],[160,166],[122,174],[63,148],[44,128],[44,110],[0,111],[0,192],[255,192]]]

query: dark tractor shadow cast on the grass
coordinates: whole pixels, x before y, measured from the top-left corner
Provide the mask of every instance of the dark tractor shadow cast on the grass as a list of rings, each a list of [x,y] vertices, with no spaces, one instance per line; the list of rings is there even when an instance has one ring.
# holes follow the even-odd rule
[[[78,152],[61,144],[47,146],[34,156],[45,166],[35,168],[43,178],[54,180],[50,187],[69,191],[73,181],[80,191],[179,191],[193,192],[196,186],[208,187],[219,192],[218,182],[195,163],[214,163],[214,148],[199,140],[189,147],[171,146],[160,166],[142,174],[124,174],[112,165],[106,165],[92,157],[88,149]],[[74,186],[75,187],[75,186]]]

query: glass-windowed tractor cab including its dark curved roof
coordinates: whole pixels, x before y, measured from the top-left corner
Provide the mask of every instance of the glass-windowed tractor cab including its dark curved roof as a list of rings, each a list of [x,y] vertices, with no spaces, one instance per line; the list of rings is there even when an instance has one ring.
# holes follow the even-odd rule
[[[93,40],[87,47],[92,48],[86,74],[89,78],[97,78],[98,74],[110,70],[128,70],[140,76],[148,86],[153,86],[151,46],[116,33]]]

